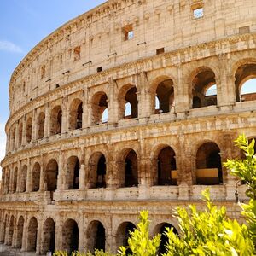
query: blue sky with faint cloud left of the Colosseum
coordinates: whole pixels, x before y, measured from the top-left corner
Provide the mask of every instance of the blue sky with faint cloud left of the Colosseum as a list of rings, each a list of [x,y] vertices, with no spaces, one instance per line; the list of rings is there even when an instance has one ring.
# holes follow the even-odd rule
[[[9,118],[9,79],[23,57],[49,33],[105,0],[0,0],[0,160]],[[0,169],[1,171],[1,169]]]

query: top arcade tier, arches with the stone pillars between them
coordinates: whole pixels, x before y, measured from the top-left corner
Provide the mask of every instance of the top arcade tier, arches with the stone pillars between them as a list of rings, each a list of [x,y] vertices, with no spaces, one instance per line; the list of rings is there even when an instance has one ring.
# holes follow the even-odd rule
[[[69,94],[63,90],[65,96],[42,102],[42,105],[12,118],[14,122],[7,125],[7,151],[96,125],[113,125],[144,117],[155,119],[161,114],[175,118],[177,113],[197,108],[221,108],[236,102],[255,101],[256,59],[244,58],[234,63],[233,77],[224,76],[215,59],[208,66],[207,60],[190,63],[181,70],[184,74],[184,86],[181,86],[184,88],[179,87],[181,81],[173,75],[177,69],[172,67],[111,80],[90,90]]]

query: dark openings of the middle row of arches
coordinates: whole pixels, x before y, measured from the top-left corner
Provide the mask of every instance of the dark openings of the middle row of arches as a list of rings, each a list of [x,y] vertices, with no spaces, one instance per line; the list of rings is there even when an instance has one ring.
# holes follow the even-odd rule
[[[177,154],[169,145],[160,145],[152,155],[150,170],[152,184],[155,186],[177,185]],[[81,171],[82,160],[72,155],[64,161],[63,189],[81,189],[81,172],[85,175],[87,189],[105,188],[111,179],[117,179],[117,187],[137,187],[141,183],[140,160],[137,152],[132,148],[121,150],[115,161],[114,170],[108,170],[112,163],[108,162],[108,155],[97,151],[91,154],[85,170]],[[207,142],[198,148],[195,158],[196,183],[214,185],[223,183],[223,173],[220,149],[216,143]],[[18,167],[3,176],[3,192],[36,192],[55,191],[59,177],[59,163],[57,159],[50,159],[43,170],[39,162],[35,162],[28,171],[28,166],[22,166],[20,175]],[[30,173],[28,173],[30,172]],[[28,177],[30,180],[28,180]],[[40,184],[41,183],[41,184]],[[41,187],[40,187],[41,186]]]

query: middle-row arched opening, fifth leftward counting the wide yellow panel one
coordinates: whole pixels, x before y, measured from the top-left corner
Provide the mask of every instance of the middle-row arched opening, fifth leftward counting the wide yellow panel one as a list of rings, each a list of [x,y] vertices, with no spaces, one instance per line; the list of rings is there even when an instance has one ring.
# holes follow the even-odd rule
[[[67,159],[67,187],[66,189],[79,189],[80,162],[77,156]]]

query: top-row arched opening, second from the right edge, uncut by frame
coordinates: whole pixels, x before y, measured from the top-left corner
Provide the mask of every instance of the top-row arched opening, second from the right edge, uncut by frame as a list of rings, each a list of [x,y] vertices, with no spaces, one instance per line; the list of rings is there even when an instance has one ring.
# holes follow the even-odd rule
[[[201,67],[192,80],[192,108],[217,105],[215,73],[208,67]]]

